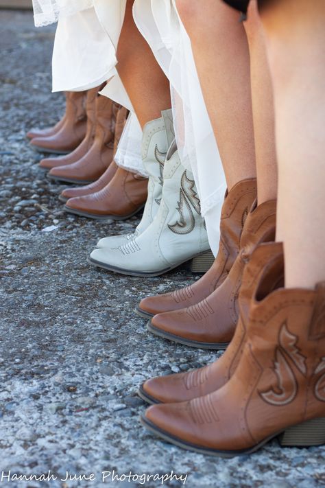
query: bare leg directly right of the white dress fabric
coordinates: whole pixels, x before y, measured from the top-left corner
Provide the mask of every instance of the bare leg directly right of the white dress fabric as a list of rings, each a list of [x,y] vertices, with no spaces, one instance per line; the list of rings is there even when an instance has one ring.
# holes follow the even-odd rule
[[[238,12],[218,0],[177,0],[191,38],[228,188],[256,176],[250,58]]]

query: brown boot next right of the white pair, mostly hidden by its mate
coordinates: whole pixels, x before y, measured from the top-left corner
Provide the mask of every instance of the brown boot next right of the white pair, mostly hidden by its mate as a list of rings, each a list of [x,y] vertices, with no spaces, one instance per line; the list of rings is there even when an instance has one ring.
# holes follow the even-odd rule
[[[213,266],[193,285],[141,300],[136,313],[151,318],[162,312],[180,310],[205,299],[220,286],[239,253],[243,224],[255,198],[255,178],[243,180],[227,191],[221,211],[219,251]]]

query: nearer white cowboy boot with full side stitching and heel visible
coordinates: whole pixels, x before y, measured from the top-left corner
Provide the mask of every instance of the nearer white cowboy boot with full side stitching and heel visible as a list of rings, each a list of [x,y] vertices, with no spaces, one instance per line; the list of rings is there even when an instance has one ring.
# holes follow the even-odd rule
[[[193,174],[185,170],[173,144],[163,172],[163,194],[152,223],[134,239],[117,248],[95,249],[93,266],[131,276],[159,276],[184,262],[192,270],[206,270],[213,259]]]

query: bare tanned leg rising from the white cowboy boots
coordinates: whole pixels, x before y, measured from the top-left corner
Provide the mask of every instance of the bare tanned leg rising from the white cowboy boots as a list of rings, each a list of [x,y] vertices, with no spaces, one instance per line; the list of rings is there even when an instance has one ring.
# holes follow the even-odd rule
[[[143,127],[171,107],[169,81],[149,45],[137,29],[133,16],[134,0],[126,4],[125,19],[117,47],[117,71]]]

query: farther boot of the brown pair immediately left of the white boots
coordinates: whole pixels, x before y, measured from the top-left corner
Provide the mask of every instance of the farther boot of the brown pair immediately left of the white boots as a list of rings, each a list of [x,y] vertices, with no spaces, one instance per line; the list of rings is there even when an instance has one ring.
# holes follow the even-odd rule
[[[117,104],[115,104],[115,107],[117,108],[117,115],[116,115],[116,124],[115,124],[113,157],[115,157],[115,153],[117,152],[117,146],[119,144],[119,140],[121,139],[123,128],[125,126],[125,121],[128,117],[128,111],[126,108],[124,108],[123,106],[117,106]],[[91,195],[93,193],[96,193],[97,191],[106,187],[108,183],[110,183],[112,177],[115,175],[117,168],[118,166],[115,163],[115,161],[112,161],[112,163],[108,166],[106,172],[104,172],[104,174],[102,174],[97,181],[91,183],[90,185],[86,185],[82,187],[64,189],[60,194],[59,199],[62,202],[67,202],[69,198],[86,196],[86,195]]]

